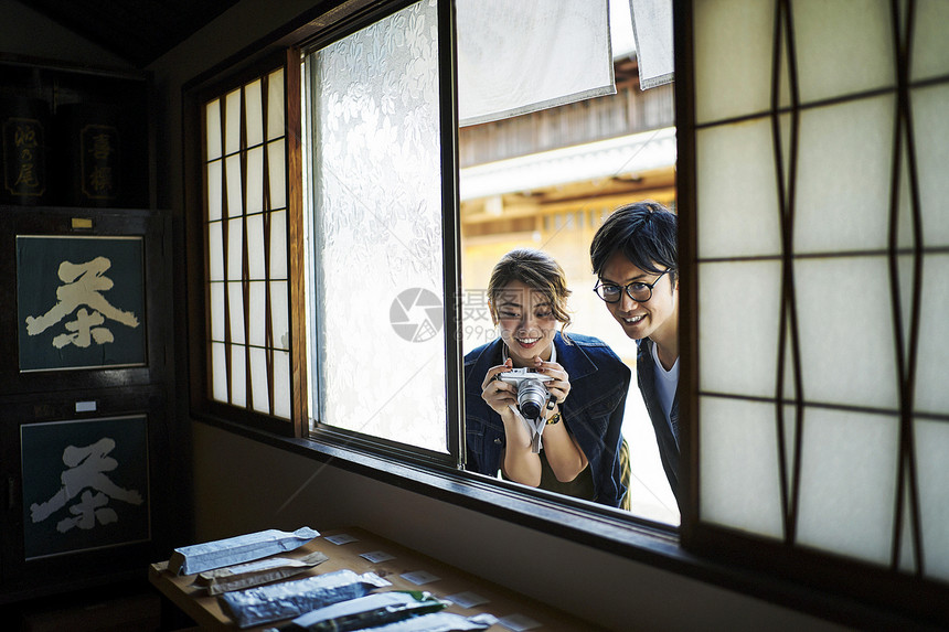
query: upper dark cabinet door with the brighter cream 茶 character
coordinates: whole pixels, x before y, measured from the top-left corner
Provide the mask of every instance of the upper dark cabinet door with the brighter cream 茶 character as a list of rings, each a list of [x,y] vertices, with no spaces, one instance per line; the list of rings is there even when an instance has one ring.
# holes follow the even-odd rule
[[[161,211],[0,206],[0,396],[163,383],[170,239]]]

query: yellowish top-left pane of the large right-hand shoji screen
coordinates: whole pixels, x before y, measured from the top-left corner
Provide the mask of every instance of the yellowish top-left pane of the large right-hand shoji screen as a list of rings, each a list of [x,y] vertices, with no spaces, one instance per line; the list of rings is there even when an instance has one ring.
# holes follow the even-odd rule
[[[775,3],[695,3],[695,119],[760,113],[771,103]]]

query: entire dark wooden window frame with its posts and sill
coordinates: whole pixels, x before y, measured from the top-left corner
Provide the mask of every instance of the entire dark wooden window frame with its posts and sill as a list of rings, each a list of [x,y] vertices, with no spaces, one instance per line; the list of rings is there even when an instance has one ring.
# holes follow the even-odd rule
[[[781,0],[778,0],[781,1]],[[449,0],[442,0],[448,3]],[[221,64],[183,87],[183,137],[185,139],[201,138],[201,104],[203,98],[217,90],[225,94],[222,86],[241,85],[248,77],[260,76],[270,69],[273,64],[284,64],[285,86],[288,94],[287,103],[299,103],[301,89],[300,73],[296,72],[300,61],[300,44],[329,38],[329,33],[341,36],[346,29],[354,30],[353,24],[365,19],[373,11],[393,10],[393,7],[405,6],[406,0],[392,2],[373,2],[371,0],[351,0],[335,2],[332,8],[319,7],[302,14],[291,24],[279,32],[273,33],[262,41],[248,45]],[[684,226],[694,226],[695,208],[695,153],[694,153],[694,82],[692,77],[692,2],[680,0],[674,6],[674,38],[681,45],[676,46],[675,55],[675,121],[678,130],[679,158],[676,162],[676,200],[678,212]],[[439,41],[439,46],[442,42]],[[454,56],[454,45],[451,46]],[[452,60],[454,63],[454,60]],[[269,69],[265,69],[269,68]],[[294,72],[291,72],[294,71]],[[444,86],[451,86],[451,98],[455,98],[456,78],[454,68],[442,67]],[[449,81],[445,81],[446,77]],[[296,86],[296,87],[294,87]],[[296,101],[290,100],[291,92],[296,89]],[[444,95],[442,95],[442,98]],[[287,118],[301,126],[300,117]],[[296,137],[299,138],[300,128]],[[288,140],[294,133],[288,133]],[[455,133],[446,137],[457,139]],[[446,140],[445,138],[442,140]],[[214,425],[236,435],[258,441],[262,444],[276,447],[288,452],[312,459],[318,463],[332,463],[342,470],[365,475],[373,480],[394,484],[412,492],[420,493],[436,500],[478,511],[499,519],[523,525],[527,528],[542,531],[572,542],[608,551],[628,559],[655,566],[672,572],[681,574],[702,581],[707,581],[721,588],[736,590],[766,601],[799,609],[827,618],[829,620],[856,624],[878,625],[881,622],[915,628],[921,618],[938,620],[934,612],[947,594],[943,586],[934,582],[920,582],[914,578],[897,577],[887,571],[860,563],[847,563],[827,554],[809,554],[801,550],[790,550],[781,545],[758,542],[744,534],[735,534],[727,529],[704,525],[699,515],[697,486],[697,363],[694,350],[690,344],[683,344],[681,392],[687,394],[681,399],[683,421],[681,479],[686,501],[682,508],[682,522],[678,529],[668,525],[654,524],[619,510],[590,506],[590,503],[551,494],[542,490],[525,490],[508,481],[489,480],[471,472],[459,470],[447,464],[414,461],[407,454],[386,454],[372,451],[371,447],[353,438],[330,435],[321,440],[308,438],[307,405],[295,397],[292,404],[294,419],[287,424],[281,419],[268,418],[260,414],[212,401],[209,397],[207,361],[204,342],[207,340],[206,308],[207,297],[204,293],[205,246],[203,222],[203,185],[194,186],[194,182],[203,182],[201,173],[202,143],[185,142],[184,179],[185,179],[185,227],[184,242],[189,266],[179,266],[175,281],[186,286],[188,318],[186,323],[177,323],[179,335],[189,341],[189,374],[186,378],[190,394],[190,413],[193,419]],[[457,146],[455,141],[442,143],[444,160],[457,164]],[[287,174],[291,169],[301,169],[299,143],[290,151],[288,142]],[[299,171],[297,171],[299,173]],[[195,176],[195,174],[198,174]],[[442,181],[446,179],[442,178]],[[456,183],[457,188],[457,175]],[[457,195],[456,192],[452,195]],[[300,186],[288,182],[288,204],[290,199],[302,196]],[[446,200],[456,197],[446,197]],[[302,221],[302,202],[299,202],[295,213]],[[456,235],[458,217],[454,212],[444,217],[445,235]],[[292,227],[288,222],[288,233],[301,231],[302,225]],[[299,235],[300,233],[297,233]],[[288,235],[288,238],[289,238]],[[457,239],[455,239],[457,244]],[[680,233],[681,257],[681,293],[682,312],[681,335],[684,341],[697,340],[697,283],[695,264],[697,239],[694,231]],[[450,256],[457,264],[460,251],[452,246]],[[292,248],[289,249],[290,251]],[[301,249],[297,249],[301,250]],[[291,260],[290,318],[294,340],[301,340],[305,328],[305,308],[300,301],[292,300],[294,296],[303,296],[303,279],[300,274],[302,263]],[[296,267],[295,267],[296,266]],[[456,266],[457,267],[457,266]],[[295,274],[296,271],[296,274]],[[446,286],[449,275],[445,275]],[[452,279],[455,287],[460,287],[458,279]],[[297,285],[299,283],[299,286]],[[296,293],[295,292],[300,292]],[[451,297],[449,303],[448,298]],[[461,297],[459,292],[449,292],[445,288],[446,324],[460,328]],[[181,330],[184,330],[183,332]],[[459,344],[460,349],[460,344]],[[463,388],[461,387],[461,357],[451,357],[449,362],[457,363],[456,371],[448,371],[447,387],[449,393],[447,415],[456,415],[463,420]],[[450,367],[449,367],[450,368]],[[299,345],[291,346],[291,388],[294,393],[309,392],[309,381],[306,376],[306,350]],[[302,390],[300,390],[302,388]],[[450,418],[450,417],[447,417]],[[462,424],[458,425],[462,428]],[[463,430],[461,430],[463,432]],[[459,432],[456,438],[462,441]],[[451,433],[449,432],[449,437]],[[924,622],[925,624],[925,622]]]

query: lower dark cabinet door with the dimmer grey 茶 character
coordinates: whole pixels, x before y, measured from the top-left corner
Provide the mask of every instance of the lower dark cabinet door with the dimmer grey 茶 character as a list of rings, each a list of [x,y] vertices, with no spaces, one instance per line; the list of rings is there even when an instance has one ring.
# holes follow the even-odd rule
[[[174,430],[161,387],[4,397],[0,603],[141,575],[167,551]],[[171,514],[169,511],[171,510]]]

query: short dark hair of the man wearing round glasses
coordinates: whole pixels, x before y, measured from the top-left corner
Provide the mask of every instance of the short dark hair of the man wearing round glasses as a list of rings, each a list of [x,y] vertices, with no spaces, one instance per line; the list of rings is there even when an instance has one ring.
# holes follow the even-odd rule
[[[590,264],[597,277],[614,253],[622,253],[640,270],[672,270],[674,279],[679,269],[675,213],[652,201],[620,206],[606,218],[590,244]]]

